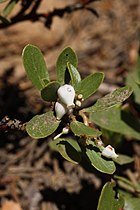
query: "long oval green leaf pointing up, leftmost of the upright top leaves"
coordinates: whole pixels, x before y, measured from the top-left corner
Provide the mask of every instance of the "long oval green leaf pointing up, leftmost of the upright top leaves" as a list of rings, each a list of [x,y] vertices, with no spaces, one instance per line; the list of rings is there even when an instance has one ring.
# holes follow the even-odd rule
[[[22,56],[28,78],[38,90],[43,89],[49,82],[49,74],[40,49],[30,44],[26,45]]]

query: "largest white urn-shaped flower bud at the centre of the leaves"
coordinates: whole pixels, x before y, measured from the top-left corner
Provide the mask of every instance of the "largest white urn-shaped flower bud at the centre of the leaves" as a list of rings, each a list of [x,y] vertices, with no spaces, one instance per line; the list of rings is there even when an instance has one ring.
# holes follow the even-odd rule
[[[58,91],[58,97],[62,103],[66,104],[67,108],[74,108],[75,104],[75,90],[71,85],[63,85],[61,86]]]

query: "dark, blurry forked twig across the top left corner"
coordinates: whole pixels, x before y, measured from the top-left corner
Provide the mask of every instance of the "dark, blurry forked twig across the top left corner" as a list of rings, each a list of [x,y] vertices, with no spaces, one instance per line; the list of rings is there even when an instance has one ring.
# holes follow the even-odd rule
[[[45,26],[48,28],[51,28],[53,17],[58,16],[62,18],[64,14],[66,13],[72,13],[74,11],[82,10],[82,9],[86,9],[92,12],[96,17],[99,17],[95,9],[87,7],[88,4],[94,1],[98,1],[98,0],[89,0],[89,1],[85,1],[84,3],[76,3],[76,4],[68,5],[68,6],[65,6],[64,8],[54,9],[52,12],[49,12],[46,14],[46,13],[37,13],[37,9],[41,3],[40,0],[37,0],[34,6],[32,7],[31,11],[28,14],[25,14],[26,10],[29,9],[29,7],[32,5],[32,2],[34,3],[34,1],[28,1],[25,5],[23,5],[20,12],[16,16],[11,18],[10,22],[1,23],[0,28],[6,28],[18,22],[23,22],[27,20],[35,22],[35,21],[40,20],[40,18],[44,18]]]

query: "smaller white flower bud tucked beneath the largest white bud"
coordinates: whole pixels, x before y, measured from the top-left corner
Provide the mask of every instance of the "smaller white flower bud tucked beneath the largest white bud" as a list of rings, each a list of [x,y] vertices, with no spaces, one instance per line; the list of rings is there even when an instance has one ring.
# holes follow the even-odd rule
[[[55,113],[56,113],[56,119],[61,120],[61,118],[64,116],[64,114],[67,113],[67,108],[60,102],[55,103]]]

